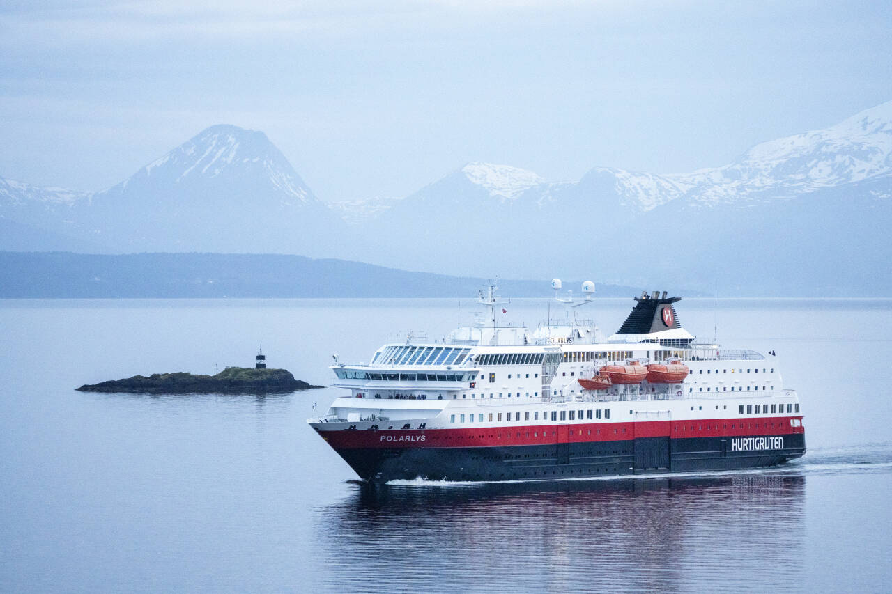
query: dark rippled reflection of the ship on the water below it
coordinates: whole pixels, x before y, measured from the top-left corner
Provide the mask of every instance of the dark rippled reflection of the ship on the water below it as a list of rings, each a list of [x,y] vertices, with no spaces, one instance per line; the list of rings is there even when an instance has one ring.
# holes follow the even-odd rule
[[[804,476],[756,473],[362,484],[317,521],[345,591],[372,577],[388,591],[799,590],[804,492]]]

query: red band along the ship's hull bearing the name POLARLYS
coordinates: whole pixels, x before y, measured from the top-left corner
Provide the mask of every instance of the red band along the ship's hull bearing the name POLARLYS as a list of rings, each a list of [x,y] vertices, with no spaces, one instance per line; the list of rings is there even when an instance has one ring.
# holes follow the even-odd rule
[[[354,448],[491,448],[588,441],[632,440],[636,437],[753,437],[805,433],[790,426],[802,417],[747,417],[698,421],[642,421],[638,423],[576,423],[567,425],[468,426],[449,429],[320,430],[336,449]]]

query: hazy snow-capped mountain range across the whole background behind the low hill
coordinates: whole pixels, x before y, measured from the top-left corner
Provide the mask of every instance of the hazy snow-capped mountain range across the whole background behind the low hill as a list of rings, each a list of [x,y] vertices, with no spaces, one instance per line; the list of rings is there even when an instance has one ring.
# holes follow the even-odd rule
[[[328,204],[263,133],[221,125],[103,192],[0,179],[8,251],[300,253],[724,295],[887,295],[890,224],[892,102],[685,174],[556,183],[474,162]]]

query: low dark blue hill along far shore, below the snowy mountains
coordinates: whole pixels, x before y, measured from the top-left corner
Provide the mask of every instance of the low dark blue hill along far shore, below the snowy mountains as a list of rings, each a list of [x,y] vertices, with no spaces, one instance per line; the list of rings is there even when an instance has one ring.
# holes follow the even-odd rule
[[[0,299],[327,298],[473,299],[489,279],[407,272],[346,260],[225,253],[0,252]],[[500,280],[506,297],[551,297],[548,281]],[[566,283],[577,288],[581,281]],[[656,287],[655,287],[656,288]],[[599,285],[600,297],[632,298],[637,287]],[[685,293],[685,296],[696,296]]]

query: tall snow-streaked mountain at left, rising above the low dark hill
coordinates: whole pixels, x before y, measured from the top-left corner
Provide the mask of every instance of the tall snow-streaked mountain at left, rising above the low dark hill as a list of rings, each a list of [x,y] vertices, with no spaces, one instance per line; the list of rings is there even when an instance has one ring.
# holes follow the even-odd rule
[[[265,134],[227,125],[207,128],[102,192],[0,188],[7,190],[0,215],[109,252],[328,255],[324,240],[343,227]],[[7,243],[0,247],[14,249]]]

